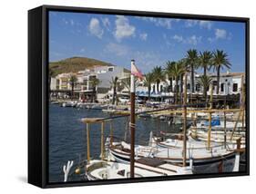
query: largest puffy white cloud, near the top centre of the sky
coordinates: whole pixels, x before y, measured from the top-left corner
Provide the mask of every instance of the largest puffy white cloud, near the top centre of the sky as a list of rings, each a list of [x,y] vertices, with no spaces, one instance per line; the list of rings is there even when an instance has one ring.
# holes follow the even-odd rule
[[[115,21],[116,29],[114,32],[115,38],[120,42],[123,38],[135,36],[136,27],[129,24],[128,18],[123,15],[117,15]]]

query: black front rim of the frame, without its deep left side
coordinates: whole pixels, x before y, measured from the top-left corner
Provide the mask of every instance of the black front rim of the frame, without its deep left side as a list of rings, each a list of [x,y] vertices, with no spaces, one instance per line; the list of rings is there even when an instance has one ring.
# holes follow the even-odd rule
[[[134,11],[134,10],[118,10],[118,9],[102,9],[89,7],[73,7],[73,6],[58,6],[58,5],[42,5],[42,188],[60,188],[60,187],[74,187],[74,186],[90,186],[90,185],[107,185],[120,183],[138,183],[148,181],[165,181],[165,180],[179,180],[179,179],[209,179],[209,178],[223,178],[223,177],[239,177],[250,175],[250,18],[248,17],[230,17],[220,15],[189,15],[189,14],[172,14],[161,12],[148,11]],[[138,15],[138,16],[156,16],[156,17],[179,17],[184,19],[202,19],[213,21],[227,21],[227,22],[242,22],[246,24],[246,171],[244,172],[230,172],[221,174],[200,174],[200,175],[179,175],[169,177],[151,177],[143,179],[108,179],[108,180],[94,180],[81,182],[67,182],[67,183],[51,183],[48,181],[48,86],[46,84],[48,76],[48,18],[49,11],[66,11],[66,12],[82,12],[91,14],[106,14],[106,15]]]

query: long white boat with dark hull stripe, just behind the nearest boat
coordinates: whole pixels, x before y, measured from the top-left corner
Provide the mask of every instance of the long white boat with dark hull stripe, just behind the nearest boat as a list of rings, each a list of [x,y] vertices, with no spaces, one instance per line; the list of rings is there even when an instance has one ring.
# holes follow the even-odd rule
[[[189,145],[189,144],[188,144]],[[128,163],[130,159],[130,145],[124,141],[109,148],[111,155],[118,162]],[[165,160],[175,165],[182,165],[183,149],[177,148],[159,148],[158,146],[135,146],[135,159],[151,157],[154,159]],[[236,153],[234,150],[224,149],[222,146],[193,148],[187,149],[186,166],[189,162],[193,163],[193,173],[217,173],[235,171]]]

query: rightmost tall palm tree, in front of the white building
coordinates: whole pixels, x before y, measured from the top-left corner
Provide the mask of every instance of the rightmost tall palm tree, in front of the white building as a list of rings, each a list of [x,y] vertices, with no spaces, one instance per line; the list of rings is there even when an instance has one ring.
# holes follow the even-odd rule
[[[220,90],[220,68],[224,67],[230,69],[230,61],[228,59],[228,54],[223,51],[217,50],[213,53],[212,57],[212,65],[214,69],[217,71],[217,94],[219,94]]]

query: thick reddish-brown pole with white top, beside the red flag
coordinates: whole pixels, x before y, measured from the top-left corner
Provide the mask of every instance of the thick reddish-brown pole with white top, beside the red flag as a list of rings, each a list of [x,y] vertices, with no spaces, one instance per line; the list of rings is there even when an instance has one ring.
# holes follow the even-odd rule
[[[135,61],[131,60],[131,66]],[[130,178],[134,178],[134,144],[135,144],[135,76],[130,75]]]

